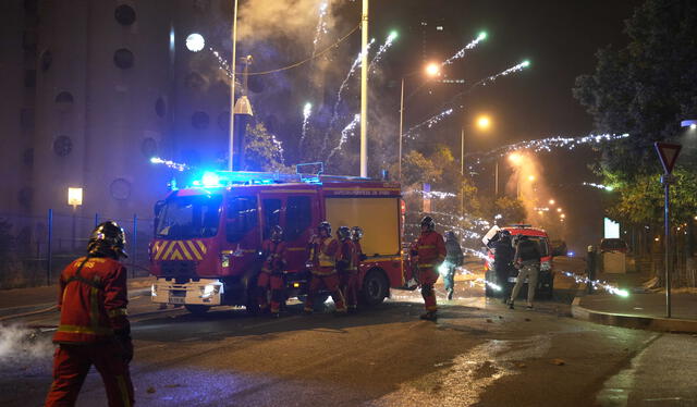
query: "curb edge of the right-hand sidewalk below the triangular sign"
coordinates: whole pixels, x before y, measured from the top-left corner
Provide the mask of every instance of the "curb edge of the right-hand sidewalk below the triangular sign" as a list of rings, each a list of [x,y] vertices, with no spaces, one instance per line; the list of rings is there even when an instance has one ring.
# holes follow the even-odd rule
[[[673,318],[638,317],[626,313],[594,311],[580,306],[580,297],[576,296],[571,305],[571,314],[576,319],[613,325],[657,332],[697,333],[697,321]]]

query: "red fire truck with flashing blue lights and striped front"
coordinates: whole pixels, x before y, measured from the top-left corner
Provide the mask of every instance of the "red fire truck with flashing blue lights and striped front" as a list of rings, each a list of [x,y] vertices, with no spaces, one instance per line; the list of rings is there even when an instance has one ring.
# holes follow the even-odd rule
[[[288,244],[286,293],[306,294],[306,246],[317,224],[360,226],[367,258],[359,264],[364,304],[380,304],[405,284],[399,183],[302,174],[211,172],[193,187],[172,190],[155,207],[150,243],[154,303],[194,313],[212,306],[257,309],[258,251],[273,225]]]

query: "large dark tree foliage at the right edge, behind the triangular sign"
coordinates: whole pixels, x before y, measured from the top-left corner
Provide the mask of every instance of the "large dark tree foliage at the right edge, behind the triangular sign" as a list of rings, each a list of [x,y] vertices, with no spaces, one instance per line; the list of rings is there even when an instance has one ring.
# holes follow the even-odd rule
[[[600,173],[620,193],[610,212],[657,222],[662,171],[652,145],[674,141],[680,122],[697,118],[697,2],[646,0],[627,20],[625,34],[626,47],[600,49],[595,72],[579,76],[573,92],[597,132],[629,134],[602,149]],[[677,162],[673,192],[682,220],[694,205],[695,158],[694,148],[684,148]]]

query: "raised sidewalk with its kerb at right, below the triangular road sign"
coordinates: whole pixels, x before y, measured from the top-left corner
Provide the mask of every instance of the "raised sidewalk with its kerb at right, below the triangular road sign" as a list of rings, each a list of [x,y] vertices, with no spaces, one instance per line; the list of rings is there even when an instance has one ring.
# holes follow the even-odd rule
[[[575,318],[624,328],[697,333],[697,293],[694,289],[671,291],[671,318],[668,318],[665,292],[646,292],[641,287],[648,275],[602,274],[599,280],[627,289],[629,296],[601,289],[587,295],[583,286],[572,304]]]

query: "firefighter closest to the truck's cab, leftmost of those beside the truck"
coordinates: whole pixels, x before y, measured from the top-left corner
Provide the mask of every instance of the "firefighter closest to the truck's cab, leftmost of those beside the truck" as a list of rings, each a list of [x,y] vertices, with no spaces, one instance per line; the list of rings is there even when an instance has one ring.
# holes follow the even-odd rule
[[[258,301],[261,312],[269,311],[267,304],[268,292],[271,291],[272,318],[279,318],[281,303],[285,299],[283,292],[283,271],[288,263],[288,250],[283,242],[283,229],[279,225],[271,227],[271,237],[261,244],[261,272],[257,279]]]

